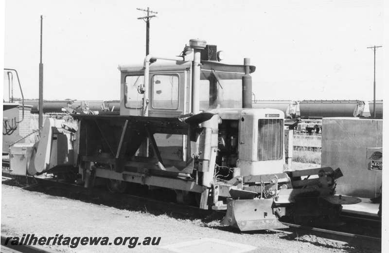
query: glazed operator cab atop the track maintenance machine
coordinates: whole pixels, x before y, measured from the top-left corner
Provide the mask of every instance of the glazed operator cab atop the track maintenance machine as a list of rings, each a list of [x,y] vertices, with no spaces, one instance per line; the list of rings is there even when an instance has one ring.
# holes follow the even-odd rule
[[[200,110],[242,108],[243,65],[216,61],[202,51],[199,82]],[[203,53],[205,52],[205,53]],[[205,55],[206,54],[206,55]],[[121,66],[121,115],[141,115],[143,104],[144,67]],[[255,66],[249,66],[250,73]],[[147,109],[148,116],[178,117],[192,112],[192,61],[158,60],[150,64]]]

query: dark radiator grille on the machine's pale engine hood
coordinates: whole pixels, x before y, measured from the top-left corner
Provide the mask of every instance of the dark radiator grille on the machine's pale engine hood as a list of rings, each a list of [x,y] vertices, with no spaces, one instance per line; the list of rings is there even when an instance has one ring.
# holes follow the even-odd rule
[[[258,120],[258,161],[283,158],[283,119]]]

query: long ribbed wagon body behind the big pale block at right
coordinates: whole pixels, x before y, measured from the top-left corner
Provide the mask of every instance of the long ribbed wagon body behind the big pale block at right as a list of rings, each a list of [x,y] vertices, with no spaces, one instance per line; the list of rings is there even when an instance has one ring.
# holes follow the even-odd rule
[[[301,118],[369,117],[369,108],[360,100],[303,100]]]

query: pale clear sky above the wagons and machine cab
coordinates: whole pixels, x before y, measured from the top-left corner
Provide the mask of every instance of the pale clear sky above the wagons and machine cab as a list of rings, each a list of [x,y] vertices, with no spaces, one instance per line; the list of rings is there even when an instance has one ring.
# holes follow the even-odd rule
[[[4,67],[19,72],[26,98],[38,97],[43,15],[44,98],[119,100],[118,65],[142,64],[145,23],[157,11],[150,53],[178,55],[191,38],[224,51],[223,63],[251,58],[256,99],[373,98],[384,87],[381,0],[6,0]]]

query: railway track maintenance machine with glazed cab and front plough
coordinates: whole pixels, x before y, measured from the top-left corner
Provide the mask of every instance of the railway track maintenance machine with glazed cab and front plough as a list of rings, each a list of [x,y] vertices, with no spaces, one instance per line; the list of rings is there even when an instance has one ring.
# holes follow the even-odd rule
[[[223,64],[220,55],[191,39],[180,56],[120,66],[120,115],[72,114],[69,157],[85,187],[103,180],[117,192],[128,182],[173,189],[177,202],[227,210],[223,224],[241,231],[283,228],[283,218],[337,223],[342,204],[360,201],[334,195],[340,170],[287,171],[283,112],[252,108],[255,66],[248,58]]]

